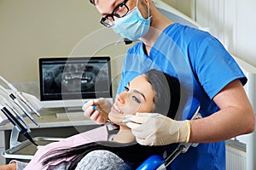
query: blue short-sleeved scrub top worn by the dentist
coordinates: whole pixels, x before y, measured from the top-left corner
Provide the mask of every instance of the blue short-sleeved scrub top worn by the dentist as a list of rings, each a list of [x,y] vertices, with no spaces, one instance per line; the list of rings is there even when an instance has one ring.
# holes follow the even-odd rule
[[[183,110],[191,105],[188,100],[191,97],[199,99],[201,115],[209,116],[219,110],[212,99],[222,88],[235,79],[240,79],[243,85],[247,82],[224,46],[205,31],[172,24],[160,35],[149,56],[144,54],[143,48],[143,42],[137,42],[128,50],[117,94],[124,91],[124,87],[134,77],[150,69],[164,71],[177,77],[183,86],[181,106],[175,118],[177,120],[186,118],[188,110]],[[224,141],[189,148],[170,167],[189,170],[225,169]]]

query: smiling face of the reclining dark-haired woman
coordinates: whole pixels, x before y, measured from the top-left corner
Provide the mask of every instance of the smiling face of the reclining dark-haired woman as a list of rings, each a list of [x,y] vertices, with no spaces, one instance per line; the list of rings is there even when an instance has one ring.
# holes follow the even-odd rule
[[[118,94],[108,115],[109,119],[120,124],[126,115],[137,112],[151,112],[154,109],[154,89],[144,75],[133,79],[126,90]]]

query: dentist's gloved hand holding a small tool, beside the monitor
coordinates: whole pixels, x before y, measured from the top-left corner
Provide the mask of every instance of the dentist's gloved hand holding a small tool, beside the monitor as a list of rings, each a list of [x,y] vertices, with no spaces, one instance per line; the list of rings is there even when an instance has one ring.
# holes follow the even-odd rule
[[[95,107],[96,106],[96,110]],[[111,103],[108,99],[90,99],[83,105],[84,116],[88,116],[90,120],[97,124],[104,124],[108,121],[108,113],[111,110]]]

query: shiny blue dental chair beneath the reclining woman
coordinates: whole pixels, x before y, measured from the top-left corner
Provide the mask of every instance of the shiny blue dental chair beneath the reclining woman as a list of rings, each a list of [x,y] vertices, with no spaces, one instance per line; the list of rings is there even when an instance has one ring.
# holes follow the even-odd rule
[[[184,107],[183,112],[188,111],[188,116],[184,119],[198,119],[201,118],[201,115],[199,113],[200,110],[200,103],[198,99],[193,98],[191,105],[187,105]],[[185,154],[189,147],[196,147],[198,144],[194,143],[180,143],[180,144],[173,144],[174,148],[171,151],[171,154],[169,156],[159,156],[159,155],[153,155],[149,156],[147,160],[143,161],[143,163],[137,167],[137,170],[160,170],[160,169],[166,169],[172,161],[174,161],[177,156],[181,154]],[[167,153],[170,152],[169,150]]]

